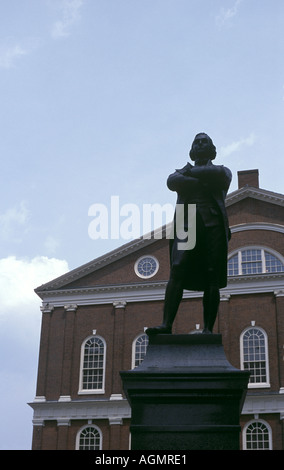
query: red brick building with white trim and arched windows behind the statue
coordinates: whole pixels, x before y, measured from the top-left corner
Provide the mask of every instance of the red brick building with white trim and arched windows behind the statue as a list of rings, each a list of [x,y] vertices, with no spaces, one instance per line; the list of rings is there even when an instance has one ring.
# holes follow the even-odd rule
[[[284,449],[284,196],[238,172],[226,200],[228,285],[214,331],[251,378],[242,449]],[[130,408],[119,371],[143,360],[145,327],[162,319],[168,240],[134,240],[36,289],[42,331],[33,449],[129,449]],[[201,293],[185,291],[173,333],[202,328]]]

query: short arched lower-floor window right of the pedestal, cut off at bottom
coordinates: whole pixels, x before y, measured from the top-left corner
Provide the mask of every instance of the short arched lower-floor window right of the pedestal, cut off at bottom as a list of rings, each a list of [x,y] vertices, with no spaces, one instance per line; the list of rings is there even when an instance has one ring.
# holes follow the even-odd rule
[[[272,450],[272,432],[265,421],[251,421],[243,430],[244,450]]]

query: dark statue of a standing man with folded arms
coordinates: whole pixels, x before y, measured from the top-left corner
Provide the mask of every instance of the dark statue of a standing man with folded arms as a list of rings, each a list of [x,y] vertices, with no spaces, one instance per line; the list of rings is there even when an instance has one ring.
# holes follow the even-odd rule
[[[172,332],[184,289],[204,292],[203,333],[213,331],[220,303],[219,289],[227,285],[230,229],[225,197],[232,179],[228,168],[212,164],[215,157],[216,148],[211,138],[205,133],[197,134],[190,150],[195,165],[187,163],[168,178],[168,188],[177,192],[177,204],[184,205],[184,232],[188,231],[187,207],[196,205],[196,244],[193,249],[180,249],[182,240],[175,230],[175,236],[170,240],[171,269],[163,323],[148,328],[148,335]]]

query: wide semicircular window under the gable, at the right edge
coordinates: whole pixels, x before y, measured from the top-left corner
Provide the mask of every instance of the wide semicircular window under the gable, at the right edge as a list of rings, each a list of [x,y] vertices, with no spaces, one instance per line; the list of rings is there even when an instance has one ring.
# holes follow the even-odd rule
[[[283,257],[269,248],[246,247],[228,259],[228,276],[283,272]]]

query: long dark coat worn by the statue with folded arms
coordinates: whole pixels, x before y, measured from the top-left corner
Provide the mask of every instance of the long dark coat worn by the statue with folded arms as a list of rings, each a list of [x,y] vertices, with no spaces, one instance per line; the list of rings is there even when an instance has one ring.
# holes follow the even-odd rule
[[[230,229],[225,198],[231,179],[232,173],[228,168],[213,165],[211,160],[198,168],[188,163],[168,177],[168,188],[177,192],[177,205],[184,205],[184,232],[188,232],[189,226],[188,204],[196,204],[195,247],[180,249],[180,242],[184,239],[179,237],[177,230],[177,210],[174,235],[170,240],[171,275],[182,280],[184,289],[204,291],[208,283],[208,258],[211,264],[213,259],[214,269],[218,271],[218,287],[227,285]]]

